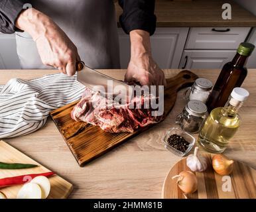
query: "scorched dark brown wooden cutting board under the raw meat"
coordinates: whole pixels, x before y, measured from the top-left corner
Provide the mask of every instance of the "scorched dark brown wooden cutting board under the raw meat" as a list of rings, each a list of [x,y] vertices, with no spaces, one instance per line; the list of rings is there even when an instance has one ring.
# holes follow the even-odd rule
[[[172,110],[178,90],[192,85],[197,78],[198,76],[192,72],[182,71],[174,78],[166,79],[167,86],[164,90],[165,115],[168,115]],[[70,112],[77,103],[78,101],[52,111],[51,117],[80,166],[84,166],[84,164],[108,152],[125,140],[153,127],[151,125],[133,133],[104,132],[99,127],[71,119]]]

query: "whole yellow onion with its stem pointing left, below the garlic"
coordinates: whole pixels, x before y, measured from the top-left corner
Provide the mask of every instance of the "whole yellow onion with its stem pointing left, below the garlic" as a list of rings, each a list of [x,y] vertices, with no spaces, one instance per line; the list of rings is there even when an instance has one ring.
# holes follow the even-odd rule
[[[184,193],[193,193],[198,189],[198,180],[196,179],[196,175],[190,171],[183,171],[180,174],[173,176],[172,180],[177,179],[178,187]]]

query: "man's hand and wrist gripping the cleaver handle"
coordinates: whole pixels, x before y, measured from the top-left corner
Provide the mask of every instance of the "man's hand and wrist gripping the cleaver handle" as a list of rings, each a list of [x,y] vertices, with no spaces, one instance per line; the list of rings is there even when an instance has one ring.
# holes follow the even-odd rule
[[[69,76],[76,73],[76,61],[80,61],[78,50],[52,19],[36,9],[27,9],[19,15],[16,26],[31,34],[44,65]]]

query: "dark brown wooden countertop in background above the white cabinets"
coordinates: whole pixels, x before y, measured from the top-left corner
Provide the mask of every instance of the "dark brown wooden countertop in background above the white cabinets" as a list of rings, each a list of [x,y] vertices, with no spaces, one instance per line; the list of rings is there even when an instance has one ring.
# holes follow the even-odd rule
[[[224,3],[231,4],[231,20],[222,19]],[[117,3],[115,5],[118,20],[122,10]],[[155,15],[157,15],[157,26],[159,27],[256,26],[256,17],[230,0],[156,0]]]

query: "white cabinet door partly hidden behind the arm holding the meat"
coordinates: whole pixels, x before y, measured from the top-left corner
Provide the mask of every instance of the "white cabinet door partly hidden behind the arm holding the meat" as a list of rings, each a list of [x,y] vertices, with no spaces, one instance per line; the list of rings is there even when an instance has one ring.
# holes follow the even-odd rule
[[[118,33],[121,68],[127,68],[131,56],[129,35],[121,28]],[[178,68],[187,36],[187,27],[157,28],[151,36],[151,46],[153,58],[160,68]]]

